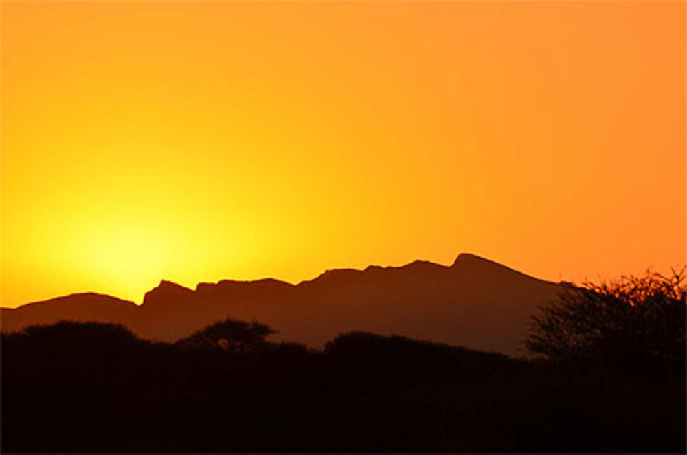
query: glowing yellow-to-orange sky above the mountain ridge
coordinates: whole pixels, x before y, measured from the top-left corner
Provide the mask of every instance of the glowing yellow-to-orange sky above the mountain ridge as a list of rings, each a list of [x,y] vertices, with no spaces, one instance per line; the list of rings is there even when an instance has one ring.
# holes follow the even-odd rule
[[[685,3],[2,2],[2,294],[685,262]]]

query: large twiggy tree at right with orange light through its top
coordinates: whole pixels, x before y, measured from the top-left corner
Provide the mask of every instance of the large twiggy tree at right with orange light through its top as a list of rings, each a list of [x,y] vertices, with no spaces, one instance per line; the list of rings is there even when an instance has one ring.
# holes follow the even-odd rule
[[[556,362],[684,366],[685,269],[581,287],[532,318],[526,348]]]

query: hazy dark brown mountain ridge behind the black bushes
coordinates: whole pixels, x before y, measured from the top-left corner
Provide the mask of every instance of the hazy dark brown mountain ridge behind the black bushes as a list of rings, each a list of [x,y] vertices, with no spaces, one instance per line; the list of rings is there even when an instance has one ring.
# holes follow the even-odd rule
[[[297,285],[271,278],[163,280],[141,305],[96,293],[1,309],[3,331],[59,320],[114,322],[151,340],[175,341],[222,320],[260,321],[275,340],[323,346],[349,331],[403,335],[508,355],[522,354],[528,316],[558,298],[562,284],[460,254],[450,267],[423,260],[401,267],[332,269]]]

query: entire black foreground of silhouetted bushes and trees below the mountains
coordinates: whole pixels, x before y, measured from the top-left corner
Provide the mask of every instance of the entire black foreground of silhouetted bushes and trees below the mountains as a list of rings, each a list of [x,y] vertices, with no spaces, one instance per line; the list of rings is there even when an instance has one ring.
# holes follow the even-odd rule
[[[648,276],[543,307],[539,359],[225,320],[175,344],[61,322],[2,337],[2,452],[683,452],[685,293]]]

